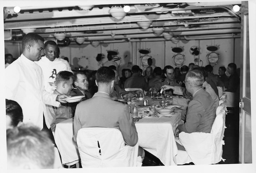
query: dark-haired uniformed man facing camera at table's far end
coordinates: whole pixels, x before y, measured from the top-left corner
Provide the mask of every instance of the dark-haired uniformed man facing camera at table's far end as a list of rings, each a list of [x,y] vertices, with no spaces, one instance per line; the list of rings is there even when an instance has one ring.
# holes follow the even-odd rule
[[[153,93],[157,93],[161,90],[161,86],[163,85],[170,85],[170,86],[181,86],[180,83],[177,83],[174,76],[174,68],[170,65],[165,66],[164,73],[166,79],[161,79],[153,86],[149,91],[153,91]],[[172,95],[173,90],[165,90],[165,94]]]

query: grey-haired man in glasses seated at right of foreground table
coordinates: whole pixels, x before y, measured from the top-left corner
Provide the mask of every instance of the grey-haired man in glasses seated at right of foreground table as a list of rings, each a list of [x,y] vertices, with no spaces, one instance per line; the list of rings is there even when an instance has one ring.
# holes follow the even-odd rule
[[[188,103],[188,110],[175,107],[175,112],[181,112],[181,119],[185,120],[183,125],[178,125],[175,134],[184,131],[186,133],[205,132],[210,133],[216,117],[214,100],[210,94],[203,89],[204,75],[200,70],[190,70],[186,74],[186,90],[192,94],[193,99]],[[184,147],[177,144],[178,149]]]

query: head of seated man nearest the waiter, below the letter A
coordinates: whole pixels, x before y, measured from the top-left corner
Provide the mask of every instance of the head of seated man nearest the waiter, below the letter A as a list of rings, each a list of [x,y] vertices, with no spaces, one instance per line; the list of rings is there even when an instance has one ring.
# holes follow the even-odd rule
[[[60,94],[69,94],[73,87],[73,74],[69,71],[60,71],[56,76],[56,91]]]

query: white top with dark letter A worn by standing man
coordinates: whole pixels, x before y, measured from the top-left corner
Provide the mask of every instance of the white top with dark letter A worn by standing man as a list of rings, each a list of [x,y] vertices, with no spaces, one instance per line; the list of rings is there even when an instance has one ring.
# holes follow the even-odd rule
[[[46,58],[46,56],[42,57],[41,60],[36,61],[35,63],[42,68],[45,90],[53,93],[53,91],[56,89],[54,83],[56,76],[60,71],[68,71],[67,65],[59,58],[55,58],[54,61],[50,61],[48,58]]]

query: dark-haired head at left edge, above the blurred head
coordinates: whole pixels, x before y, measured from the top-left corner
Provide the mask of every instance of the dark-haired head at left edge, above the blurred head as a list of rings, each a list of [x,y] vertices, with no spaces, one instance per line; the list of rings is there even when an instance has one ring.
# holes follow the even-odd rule
[[[19,122],[23,122],[22,108],[16,101],[5,99],[6,115],[10,116],[11,126],[16,127]]]

